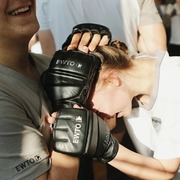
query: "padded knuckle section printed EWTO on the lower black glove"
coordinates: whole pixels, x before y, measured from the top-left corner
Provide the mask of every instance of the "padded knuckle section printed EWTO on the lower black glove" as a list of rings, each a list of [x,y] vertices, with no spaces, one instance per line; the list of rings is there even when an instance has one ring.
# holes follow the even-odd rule
[[[89,111],[83,109],[61,110],[54,124],[53,149],[71,155],[86,154],[92,139],[90,135],[93,128],[91,115]],[[94,149],[96,146],[97,142]]]

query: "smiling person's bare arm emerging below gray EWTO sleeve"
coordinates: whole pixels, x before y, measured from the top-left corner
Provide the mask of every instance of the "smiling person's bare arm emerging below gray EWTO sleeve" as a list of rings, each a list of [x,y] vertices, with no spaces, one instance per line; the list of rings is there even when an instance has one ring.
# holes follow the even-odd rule
[[[77,180],[79,159],[65,154],[52,152],[51,169],[36,180]]]

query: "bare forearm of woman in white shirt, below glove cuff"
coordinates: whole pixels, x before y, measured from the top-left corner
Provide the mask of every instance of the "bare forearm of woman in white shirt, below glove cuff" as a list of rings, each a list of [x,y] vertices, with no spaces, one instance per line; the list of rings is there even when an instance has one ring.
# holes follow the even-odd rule
[[[119,145],[117,156],[109,164],[135,178],[167,180],[174,177],[180,164],[180,158],[158,160]]]

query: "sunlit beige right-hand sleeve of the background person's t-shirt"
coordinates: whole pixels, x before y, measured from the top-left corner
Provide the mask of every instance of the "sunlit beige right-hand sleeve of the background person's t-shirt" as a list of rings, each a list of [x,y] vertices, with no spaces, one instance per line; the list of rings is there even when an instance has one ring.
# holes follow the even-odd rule
[[[162,22],[154,0],[144,0],[140,6],[140,26]]]

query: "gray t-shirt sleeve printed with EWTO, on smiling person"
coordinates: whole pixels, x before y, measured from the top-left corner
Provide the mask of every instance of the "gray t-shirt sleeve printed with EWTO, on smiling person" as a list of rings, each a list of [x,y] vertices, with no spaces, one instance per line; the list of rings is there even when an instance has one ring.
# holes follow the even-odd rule
[[[47,145],[23,105],[0,91],[0,177],[35,179],[50,168]]]

